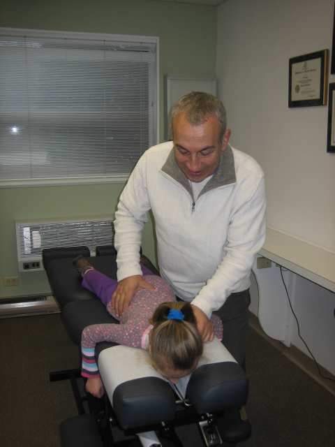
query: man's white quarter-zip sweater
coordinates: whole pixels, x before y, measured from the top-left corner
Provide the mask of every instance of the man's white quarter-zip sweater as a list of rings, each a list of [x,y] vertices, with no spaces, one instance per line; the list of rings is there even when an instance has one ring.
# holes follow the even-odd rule
[[[161,276],[210,318],[233,292],[250,286],[265,242],[265,182],[258,163],[228,145],[194,201],[173,143],[144,152],[121,193],[114,222],[118,280],[142,274],[139,251],[152,210]]]

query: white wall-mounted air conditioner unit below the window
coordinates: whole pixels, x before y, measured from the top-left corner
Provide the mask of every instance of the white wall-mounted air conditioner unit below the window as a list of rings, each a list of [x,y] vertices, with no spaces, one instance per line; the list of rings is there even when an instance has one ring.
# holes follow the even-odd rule
[[[15,221],[15,231],[19,272],[44,270],[43,249],[86,245],[95,256],[99,245],[114,244],[112,216]]]

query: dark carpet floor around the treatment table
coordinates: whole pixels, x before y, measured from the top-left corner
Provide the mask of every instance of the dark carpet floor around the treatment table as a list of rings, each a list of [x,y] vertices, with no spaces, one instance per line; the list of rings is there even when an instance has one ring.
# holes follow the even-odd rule
[[[79,366],[60,314],[0,320],[0,446],[60,447],[59,424],[77,409],[69,381],[49,372]],[[335,397],[251,329],[248,418],[241,447],[335,445]],[[196,427],[179,431],[184,447],[202,447]]]

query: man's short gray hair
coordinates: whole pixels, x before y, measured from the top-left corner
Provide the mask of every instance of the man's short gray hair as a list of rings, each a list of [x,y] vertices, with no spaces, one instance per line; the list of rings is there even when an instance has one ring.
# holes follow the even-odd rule
[[[192,91],[179,99],[171,110],[172,136],[174,118],[180,113],[185,113],[187,121],[192,126],[200,126],[207,121],[209,116],[214,115],[220,124],[220,142],[223,141],[223,135],[227,128],[227,117],[223,103],[216,96],[202,91]]]

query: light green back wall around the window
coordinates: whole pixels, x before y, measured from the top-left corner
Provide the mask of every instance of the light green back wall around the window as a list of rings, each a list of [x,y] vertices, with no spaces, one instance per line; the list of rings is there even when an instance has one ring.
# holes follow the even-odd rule
[[[216,74],[216,8],[150,0],[11,0],[0,4],[0,27],[159,37],[160,140],[163,75]],[[50,291],[45,272],[17,268],[15,220],[113,214],[124,184],[0,189],[0,297]],[[152,219],[144,226],[144,254],[156,260]],[[3,277],[19,286],[3,287]]]

